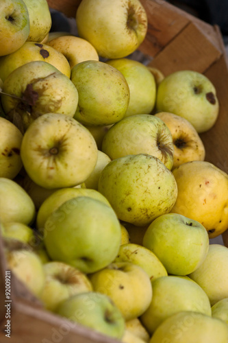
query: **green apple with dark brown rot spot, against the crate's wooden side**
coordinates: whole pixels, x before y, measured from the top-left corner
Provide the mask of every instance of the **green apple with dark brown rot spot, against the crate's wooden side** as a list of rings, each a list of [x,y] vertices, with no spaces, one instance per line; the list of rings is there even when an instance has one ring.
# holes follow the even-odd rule
[[[191,70],[167,75],[157,88],[158,112],[186,118],[198,133],[214,126],[219,112],[214,84],[202,73]]]

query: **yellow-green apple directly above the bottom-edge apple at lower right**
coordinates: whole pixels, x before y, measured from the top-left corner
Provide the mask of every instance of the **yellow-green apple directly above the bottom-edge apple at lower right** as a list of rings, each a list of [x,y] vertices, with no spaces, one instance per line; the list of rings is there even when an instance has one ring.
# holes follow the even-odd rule
[[[153,282],[153,298],[140,320],[153,334],[166,318],[180,311],[212,316],[210,300],[197,283],[179,276],[161,276]]]

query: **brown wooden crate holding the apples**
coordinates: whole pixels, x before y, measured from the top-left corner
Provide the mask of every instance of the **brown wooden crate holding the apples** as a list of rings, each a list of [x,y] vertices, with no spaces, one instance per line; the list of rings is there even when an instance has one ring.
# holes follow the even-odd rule
[[[228,64],[219,28],[179,10],[164,0],[141,0],[147,10],[148,33],[139,50],[149,65],[164,75],[181,69],[203,73],[216,87],[220,113],[214,127],[201,134],[205,160],[228,173]],[[48,0],[49,7],[75,18],[80,0]],[[228,246],[228,230],[223,234]],[[72,324],[42,308],[11,273],[11,338],[5,337],[5,270],[0,239],[0,342],[11,343],[118,343],[105,335]]]

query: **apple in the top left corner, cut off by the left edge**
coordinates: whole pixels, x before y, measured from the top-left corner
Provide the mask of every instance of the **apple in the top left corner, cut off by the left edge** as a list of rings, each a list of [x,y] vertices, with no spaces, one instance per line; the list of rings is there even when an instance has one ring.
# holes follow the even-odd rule
[[[29,36],[29,12],[23,0],[1,0],[0,56],[12,54]]]

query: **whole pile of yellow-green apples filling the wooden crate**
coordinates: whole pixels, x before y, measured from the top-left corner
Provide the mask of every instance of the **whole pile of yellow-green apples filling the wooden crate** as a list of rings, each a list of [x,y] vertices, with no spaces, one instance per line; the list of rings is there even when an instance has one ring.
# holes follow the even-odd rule
[[[228,342],[228,175],[199,134],[205,75],[134,60],[138,0],[0,3],[0,221],[8,268],[47,311],[124,343]]]

